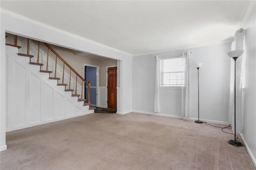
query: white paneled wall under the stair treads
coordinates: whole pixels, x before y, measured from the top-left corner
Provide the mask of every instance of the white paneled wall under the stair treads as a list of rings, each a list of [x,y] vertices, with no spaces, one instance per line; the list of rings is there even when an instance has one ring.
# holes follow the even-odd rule
[[[18,48],[6,45],[6,61],[6,132],[94,113],[48,73],[40,73],[40,66],[30,65],[29,57],[19,56]]]

